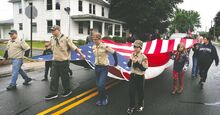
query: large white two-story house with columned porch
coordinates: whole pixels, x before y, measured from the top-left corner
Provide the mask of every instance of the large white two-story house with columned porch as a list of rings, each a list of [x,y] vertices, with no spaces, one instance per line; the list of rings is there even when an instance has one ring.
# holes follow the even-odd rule
[[[19,36],[30,39],[30,19],[25,9],[32,3],[38,11],[33,19],[33,40],[49,40],[50,28],[60,25],[62,33],[71,38],[86,39],[93,29],[102,36],[122,36],[124,22],[110,19],[109,0],[10,0],[13,3],[14,29]],[[65,9],[70,8],[68,14]]]

